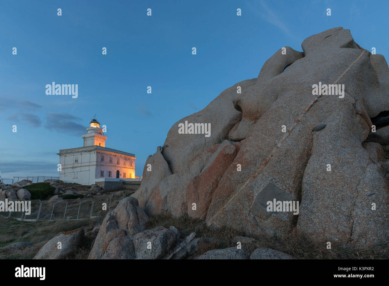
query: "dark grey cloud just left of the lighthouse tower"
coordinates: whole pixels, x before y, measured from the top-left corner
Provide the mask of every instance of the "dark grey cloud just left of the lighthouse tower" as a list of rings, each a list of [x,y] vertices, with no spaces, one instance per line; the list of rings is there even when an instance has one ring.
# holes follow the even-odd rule
[[[77,123],[82,118],[68,113],[48,113],[45,128],[59,133],[80,136],[86,133],[86,126]]]

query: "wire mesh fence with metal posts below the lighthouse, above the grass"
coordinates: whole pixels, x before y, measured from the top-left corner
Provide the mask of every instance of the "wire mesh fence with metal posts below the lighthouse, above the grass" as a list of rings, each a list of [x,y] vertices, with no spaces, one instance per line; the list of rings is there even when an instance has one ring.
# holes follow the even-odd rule
[[[86,219],[95,216],[105,216],[111,208],[114,209],[116,207],[121,199],[130,196],[132,193],[133,191],[119,191],[108,193],[107,195],[73,200],[31,200],[30,214],[10,211],[0,212],[0,216],[29,220]]]

